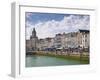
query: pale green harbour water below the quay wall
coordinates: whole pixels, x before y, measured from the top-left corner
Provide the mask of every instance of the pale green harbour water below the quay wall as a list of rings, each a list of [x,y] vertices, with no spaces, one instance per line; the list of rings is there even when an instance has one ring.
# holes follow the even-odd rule
[[[65,58],[28,55],[26,56],[26,67],[39,67],[39,66],[61,66],[61,65],[76,65],[81,64],[80,61],[68,60]]]

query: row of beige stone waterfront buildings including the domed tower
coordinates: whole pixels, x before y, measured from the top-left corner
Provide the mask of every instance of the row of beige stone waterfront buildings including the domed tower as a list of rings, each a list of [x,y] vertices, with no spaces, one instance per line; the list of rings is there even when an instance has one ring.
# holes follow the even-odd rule
[[[77,32],[56,34],[55,37],[38,39],[36,30],[33,28],[32,35],[26,40],[26,51],[45,50],[47,48],[68,49],[84,48],[89,49],[90,43],[89,30],[78,30]]]

